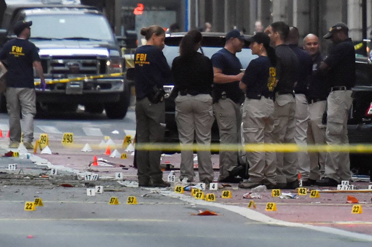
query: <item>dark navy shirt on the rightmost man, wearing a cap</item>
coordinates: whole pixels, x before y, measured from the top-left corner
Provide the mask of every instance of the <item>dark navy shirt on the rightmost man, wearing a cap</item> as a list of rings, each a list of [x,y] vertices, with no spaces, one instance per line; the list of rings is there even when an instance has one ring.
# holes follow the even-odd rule
[[[355,49],[350,38],[332,47],[324,62],[330,66],[327,75],[331,87],[355,85]]]

